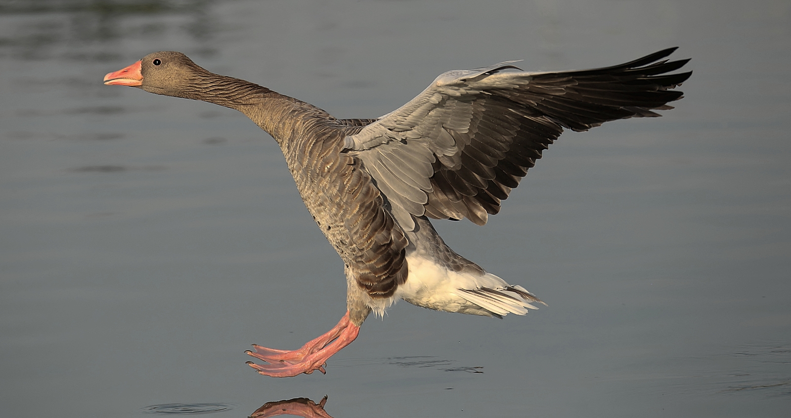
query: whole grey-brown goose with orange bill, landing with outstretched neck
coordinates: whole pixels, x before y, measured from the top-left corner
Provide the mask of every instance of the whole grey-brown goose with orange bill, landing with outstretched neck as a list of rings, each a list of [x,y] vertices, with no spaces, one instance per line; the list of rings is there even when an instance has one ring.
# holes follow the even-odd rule
[[[259,374],[326,373],[371,312],[397,299],[501,318],[544,304],[456,254],[430,219],[483,225],[563,130],[660,116],[690,72],[672,73],[676,47],[592,70],[527,72],[506,61],[442,73],[377,119],[336,119],[269,88],[210,73],[161,51],[108,73],[105,85],[142,88],[241,111],[278,142],[316,225],[343,259],[346,314],[297,350],[253,345]]]

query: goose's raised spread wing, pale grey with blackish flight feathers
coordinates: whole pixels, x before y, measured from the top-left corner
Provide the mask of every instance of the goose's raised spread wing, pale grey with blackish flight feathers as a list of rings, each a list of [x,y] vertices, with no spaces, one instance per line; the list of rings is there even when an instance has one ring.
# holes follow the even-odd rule
[[[412,217],[464,217],[486,224],[563,128],[659,116],[682,92],[689,61],[661,60],[676,48],[619,66],[528,73],[501,62],[443,73],[398,110],[345,138],[410,231]]]

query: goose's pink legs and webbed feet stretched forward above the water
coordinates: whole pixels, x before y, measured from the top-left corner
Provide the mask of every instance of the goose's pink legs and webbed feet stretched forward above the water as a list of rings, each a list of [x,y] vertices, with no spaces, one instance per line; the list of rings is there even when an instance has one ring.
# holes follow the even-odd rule
[[[349,321],[349,312],[346,311],[332,330],[315,340],[308,341],[298,350],[276,350],[253,345],[255,352],[248,350],[246,353],[270,364],[255,364],[252,361],[247,363],[260,375],[274,378],[292,377],[301,373],[310,375],[315,370],[326,373],[324,364],[327,363],[327,359],[354,341],[358,333],[360,327]]]

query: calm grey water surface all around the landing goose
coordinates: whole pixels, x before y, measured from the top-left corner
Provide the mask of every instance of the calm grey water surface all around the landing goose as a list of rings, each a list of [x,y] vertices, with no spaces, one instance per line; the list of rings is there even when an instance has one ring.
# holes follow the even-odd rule
[[[339,118],[452,69],[693,58],[655,119],[563,134],[503,210],[435,222],[549,306],[397,303],[327,375],[267,378],[346,309],[343,263],[271,137],[102,85],[152,51]],[[2,416],[788,416],[791,3],[0,1]],[[313,405],[311,405],[313,404]],[[296,404],[295,404],[296,405]]]

